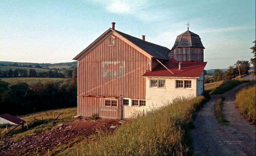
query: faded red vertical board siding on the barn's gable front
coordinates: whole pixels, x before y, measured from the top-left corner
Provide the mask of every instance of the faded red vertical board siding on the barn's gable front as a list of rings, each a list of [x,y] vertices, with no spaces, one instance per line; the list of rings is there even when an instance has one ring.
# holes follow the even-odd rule
[[[108,37],[77,61],[77,109],[81,116],[99,113],[102,97],[146,99],[146,79],[141,75],[150,70],[150,58],[116,36],[115,46],[108,46]],[[118,104],[122,105],[121,100]]]

